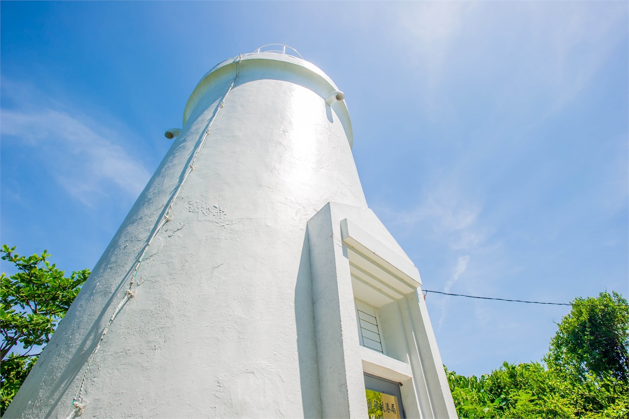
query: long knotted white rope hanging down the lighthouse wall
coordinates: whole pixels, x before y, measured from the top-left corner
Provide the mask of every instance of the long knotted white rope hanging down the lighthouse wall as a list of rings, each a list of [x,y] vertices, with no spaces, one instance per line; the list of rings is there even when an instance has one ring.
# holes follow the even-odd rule
[[[113,323],[114,319],[116,318],[116,315],[118,315],[118,313],[120,312],[121,308],[123,308],[125,303],[129,299],[131,299],[131,298],[133,298],[135,296],[135,291],[133,291],[133,286],[136,284],[135,277],[138,274],[138,270],[140,269],[140,265],[142,265],[142,259],[144,258],[144,255],[147,253],[148,247],[150,247],[151,243],[153,242],[153,239],[155,237],[157,237],[157,235],[159,234],[160,230],[162,230],[162,227],[168,221],[170,221],[169,215],[170,215],[170,211],[172,210],[172,206],[175,203],[175,199],[177,199],[177,196],[179,195],[179,192],[181,191],[182,186],[184,186],[184,183],[186,183],[186,179],[188,178],[188,176],[190,176],[190,174],[192,173],[192,170],[194,170],[194,164],[196,163],[196,160],[199,157],[199,152],[201,152],[201,148],[203,147],[203,144],[205,143],[206,139],[209,137],[209,133],[211,131],[212,125],[214,124],[214,121],[216,120],[216,116],[218,116],[218,114],[220,113],[221,109],[223,109],[223,105],[225,104],[225,99],[227,99],[227,96],[230,94],[231,89],[233,89],[234,84],[236,83],[236,81],[238,80],[238,77],[240,76],[240,62],[241,61],[242,61],[242,54],[239,54],[237,59],[234,60],[234,62],[236,63],[236,76],[234,77],[233,81],[231,81],[230,87],[225,92],[225,96],[223,96],[223,99],[221,100],[221,103],[218,105],[218,108],[216,109],[216,112],[210,118],[210,120],[208,122],[208,127],[204,131],[203,137],[201,138],[201,141],[199,142],[199,145],[194,150],[194,155],[192,156],[192,160],[190,162],[190,165],[186,169],[186,174],[184,175],[184,177],[179,182],[179,186],[177,186],[177,189],[175,190],[175,193],[172,195],[172,197],[169,199],[169,201],[167,201],[167,203],[165,205],[166,211],[164,213],[164,216],[161,218],[161,220],[159,220],[157,228],[155,228],[155,230],[153,230],[153,234],[150,236],[150,238],[148,239],[148,242],[142,248],[142,252],[140,252],[140,257],[138,257],[137,261],[135,262],[135,267],[133,267],[133,271],[131,273],[131,281],[129,282],[129,287],[125,290],[125,295],[120,300],[120,303],[118,303],[118,306],[116,306],[116,309],[114,310],[113,314],[109,318],[109,321],[107,322],[107,325],[103,329],[103,333],[101,333],[101,338],[98,340],[98,343],[96,344],[96,347],[94,347],[94,350],[92,350],[92,353],[89,355],[89,357],[87,359],[87,367],[86,367],[85,372],[83,373],[83,377],[81,379],[81,384],[79,385],[79,390],[77,391],[77,394],[75,395],[74,399],[72,399],[72,404],[70,405],[70,408],[69,408],[69,410],[70,409],[74,409],[74,410],[70,411],[70,414],[67,416],[67,419],[72,419],[74,416],[81,416],[81,413],[82,413],[83,409],[86,408],[86,406],[87,406],[87,401],[83,400],[83,389],[85,387],[87,374],[89,372],[89,367],[91,367],[92,362],[94,361],[94,357],[96,356],[96,353],[98,352],[99,348],[101,347],[101,343],[103,343],[103,339],[104,339],[105,335],[107,334],[107,331],[109,330],[109,327],[111,326],[111,323]]]

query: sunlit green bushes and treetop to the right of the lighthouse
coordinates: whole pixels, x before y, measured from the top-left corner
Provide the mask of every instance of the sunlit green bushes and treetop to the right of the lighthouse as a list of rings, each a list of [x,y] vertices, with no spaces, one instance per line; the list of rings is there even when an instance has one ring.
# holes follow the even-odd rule
[[[577,298],[550,342],[546,365],[504,362],[480,378],[446,369],[459,417],[626,418],[628,313],[618,293]]]

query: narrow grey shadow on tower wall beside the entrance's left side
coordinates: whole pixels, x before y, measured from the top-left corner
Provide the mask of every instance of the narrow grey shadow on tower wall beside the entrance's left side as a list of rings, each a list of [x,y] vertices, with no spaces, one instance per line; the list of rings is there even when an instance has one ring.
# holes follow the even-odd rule
[[[304,408],[304,418],[321,418],[323,413],[319,389],[308,229],[304,235],[295,285],[295,323],[297,325],[299,379],[301,381],[301,403]]]

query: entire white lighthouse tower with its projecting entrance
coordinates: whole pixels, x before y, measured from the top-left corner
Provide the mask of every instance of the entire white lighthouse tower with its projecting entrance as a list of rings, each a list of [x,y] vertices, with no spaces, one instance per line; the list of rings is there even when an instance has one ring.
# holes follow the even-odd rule
[[[344,95],[281,47],[204,75],[4,418],[455,418]]]

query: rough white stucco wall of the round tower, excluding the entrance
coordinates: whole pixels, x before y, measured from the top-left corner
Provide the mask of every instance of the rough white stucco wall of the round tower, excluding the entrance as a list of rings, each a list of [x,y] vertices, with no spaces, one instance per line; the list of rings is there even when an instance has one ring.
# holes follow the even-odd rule
[[[192,109],[4,417],[69,413],[228,70]],[[84,416],[321,415],[306,222],[328,201],[367,204],[337,104],[325,104],[326,86],[308,72],[291,77],[242,65],[172,221],[148,249],[135,298],[94,359]]]

